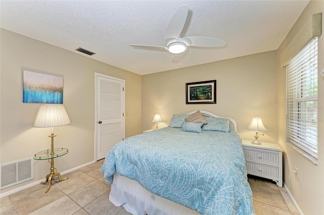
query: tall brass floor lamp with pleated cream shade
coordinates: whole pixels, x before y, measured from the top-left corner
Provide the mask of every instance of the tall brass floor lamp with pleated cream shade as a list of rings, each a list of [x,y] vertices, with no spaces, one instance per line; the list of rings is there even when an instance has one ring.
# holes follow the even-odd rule
[[[54,171],[54,127],[66,125],[70,123],[70,119],[66,113],[66,110],[62,104],[46,104],[41,105],[38,108],[38,112],[36,114],[36,118],[34,121],[34,127],[52,127],[51,135],[49,136],[52,139],[51,144],[51,168],[50,174],[46,176],[45,182],[41,182],[41,184],[46,184],[48,182],[48,189],[45,193],[47,193],[51,187],[52,179],[58,177],[60,181],[66,180],[68,178],[61,178],[61,174],[55,173]]]

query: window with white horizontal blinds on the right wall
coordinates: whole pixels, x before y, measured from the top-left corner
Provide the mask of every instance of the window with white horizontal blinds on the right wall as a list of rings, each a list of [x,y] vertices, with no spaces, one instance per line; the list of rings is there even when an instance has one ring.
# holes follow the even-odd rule
[[[317,164],[317,37],[286,66],[287,143]]]

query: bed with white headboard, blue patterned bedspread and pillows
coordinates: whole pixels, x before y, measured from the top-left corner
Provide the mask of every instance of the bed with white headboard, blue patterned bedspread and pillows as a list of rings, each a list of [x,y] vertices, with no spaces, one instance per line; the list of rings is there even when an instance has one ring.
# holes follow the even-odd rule
[[[132,214],[255,214],[236,122],[207,111],[120,141],[100,170]]]

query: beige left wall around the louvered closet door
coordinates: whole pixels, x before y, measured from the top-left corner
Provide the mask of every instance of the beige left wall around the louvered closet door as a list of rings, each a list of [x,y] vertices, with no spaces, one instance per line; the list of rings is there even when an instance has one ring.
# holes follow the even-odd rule
[[[94,158],[94,73],[126,80],[126,137],[141,133],[141,76],[91,57],[67,51],[29,37],[1,29],[0,162],[32,157],[51,147],[51,128],[34,128],[40,104],[22,102],[22,70],[63,75],[63,103],[71,123],[55,127],[54,147],[69,149],[55,159],[62,172]],[[47,160],[34,161],[34,180],[1,190],[1,193],[45,179]]]

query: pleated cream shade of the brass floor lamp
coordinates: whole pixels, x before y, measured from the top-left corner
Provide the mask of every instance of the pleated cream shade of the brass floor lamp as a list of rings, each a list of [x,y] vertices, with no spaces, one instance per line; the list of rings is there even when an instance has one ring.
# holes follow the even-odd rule
[[[39,106],[34,127],[56,127],[69,123],[69,116],[62,104],[47,104]]]

